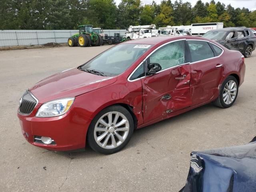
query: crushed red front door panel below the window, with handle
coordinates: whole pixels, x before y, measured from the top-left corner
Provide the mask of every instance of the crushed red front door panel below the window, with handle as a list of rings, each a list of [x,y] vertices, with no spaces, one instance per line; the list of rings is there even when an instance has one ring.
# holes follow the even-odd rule
[[[177,80],[176,77],[184,78]],[[142,78],[142,87],[144,123],[164,119],[166,114],[191,105],[190,65],[176,66]]]

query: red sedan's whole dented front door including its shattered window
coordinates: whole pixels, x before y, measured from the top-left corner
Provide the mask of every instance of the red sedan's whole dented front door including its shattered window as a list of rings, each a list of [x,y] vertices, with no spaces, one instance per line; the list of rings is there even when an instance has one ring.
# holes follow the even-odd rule
[[[144,123],[191,106],[190,65],[185,64],[184,40],[158,48],[146,63],[158,63],[162,70],[141,79]]]

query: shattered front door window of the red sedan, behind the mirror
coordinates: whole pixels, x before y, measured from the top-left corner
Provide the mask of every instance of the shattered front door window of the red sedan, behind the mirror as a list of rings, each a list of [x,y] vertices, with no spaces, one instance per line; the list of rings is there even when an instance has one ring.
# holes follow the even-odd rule
[[[162,46],[149,57],[150,63],[158,63],[167,69],[185,63],[184,41],[175,41]]]

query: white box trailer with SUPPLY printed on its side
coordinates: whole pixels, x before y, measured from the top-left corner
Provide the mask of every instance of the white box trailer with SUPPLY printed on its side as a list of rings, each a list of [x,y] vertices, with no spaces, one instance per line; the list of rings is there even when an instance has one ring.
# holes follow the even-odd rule
[[[194,23],[191,24],[191,35],[192,36],[202,36],[206,32],[213,29],[222,29],[223,23]]]

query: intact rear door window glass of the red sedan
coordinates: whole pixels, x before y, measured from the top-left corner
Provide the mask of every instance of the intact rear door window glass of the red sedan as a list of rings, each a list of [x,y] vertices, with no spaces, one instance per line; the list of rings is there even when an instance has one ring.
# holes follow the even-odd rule
[[[214,57],[214,53],[206,41],[189,41],[188,46],[192,62]]]

